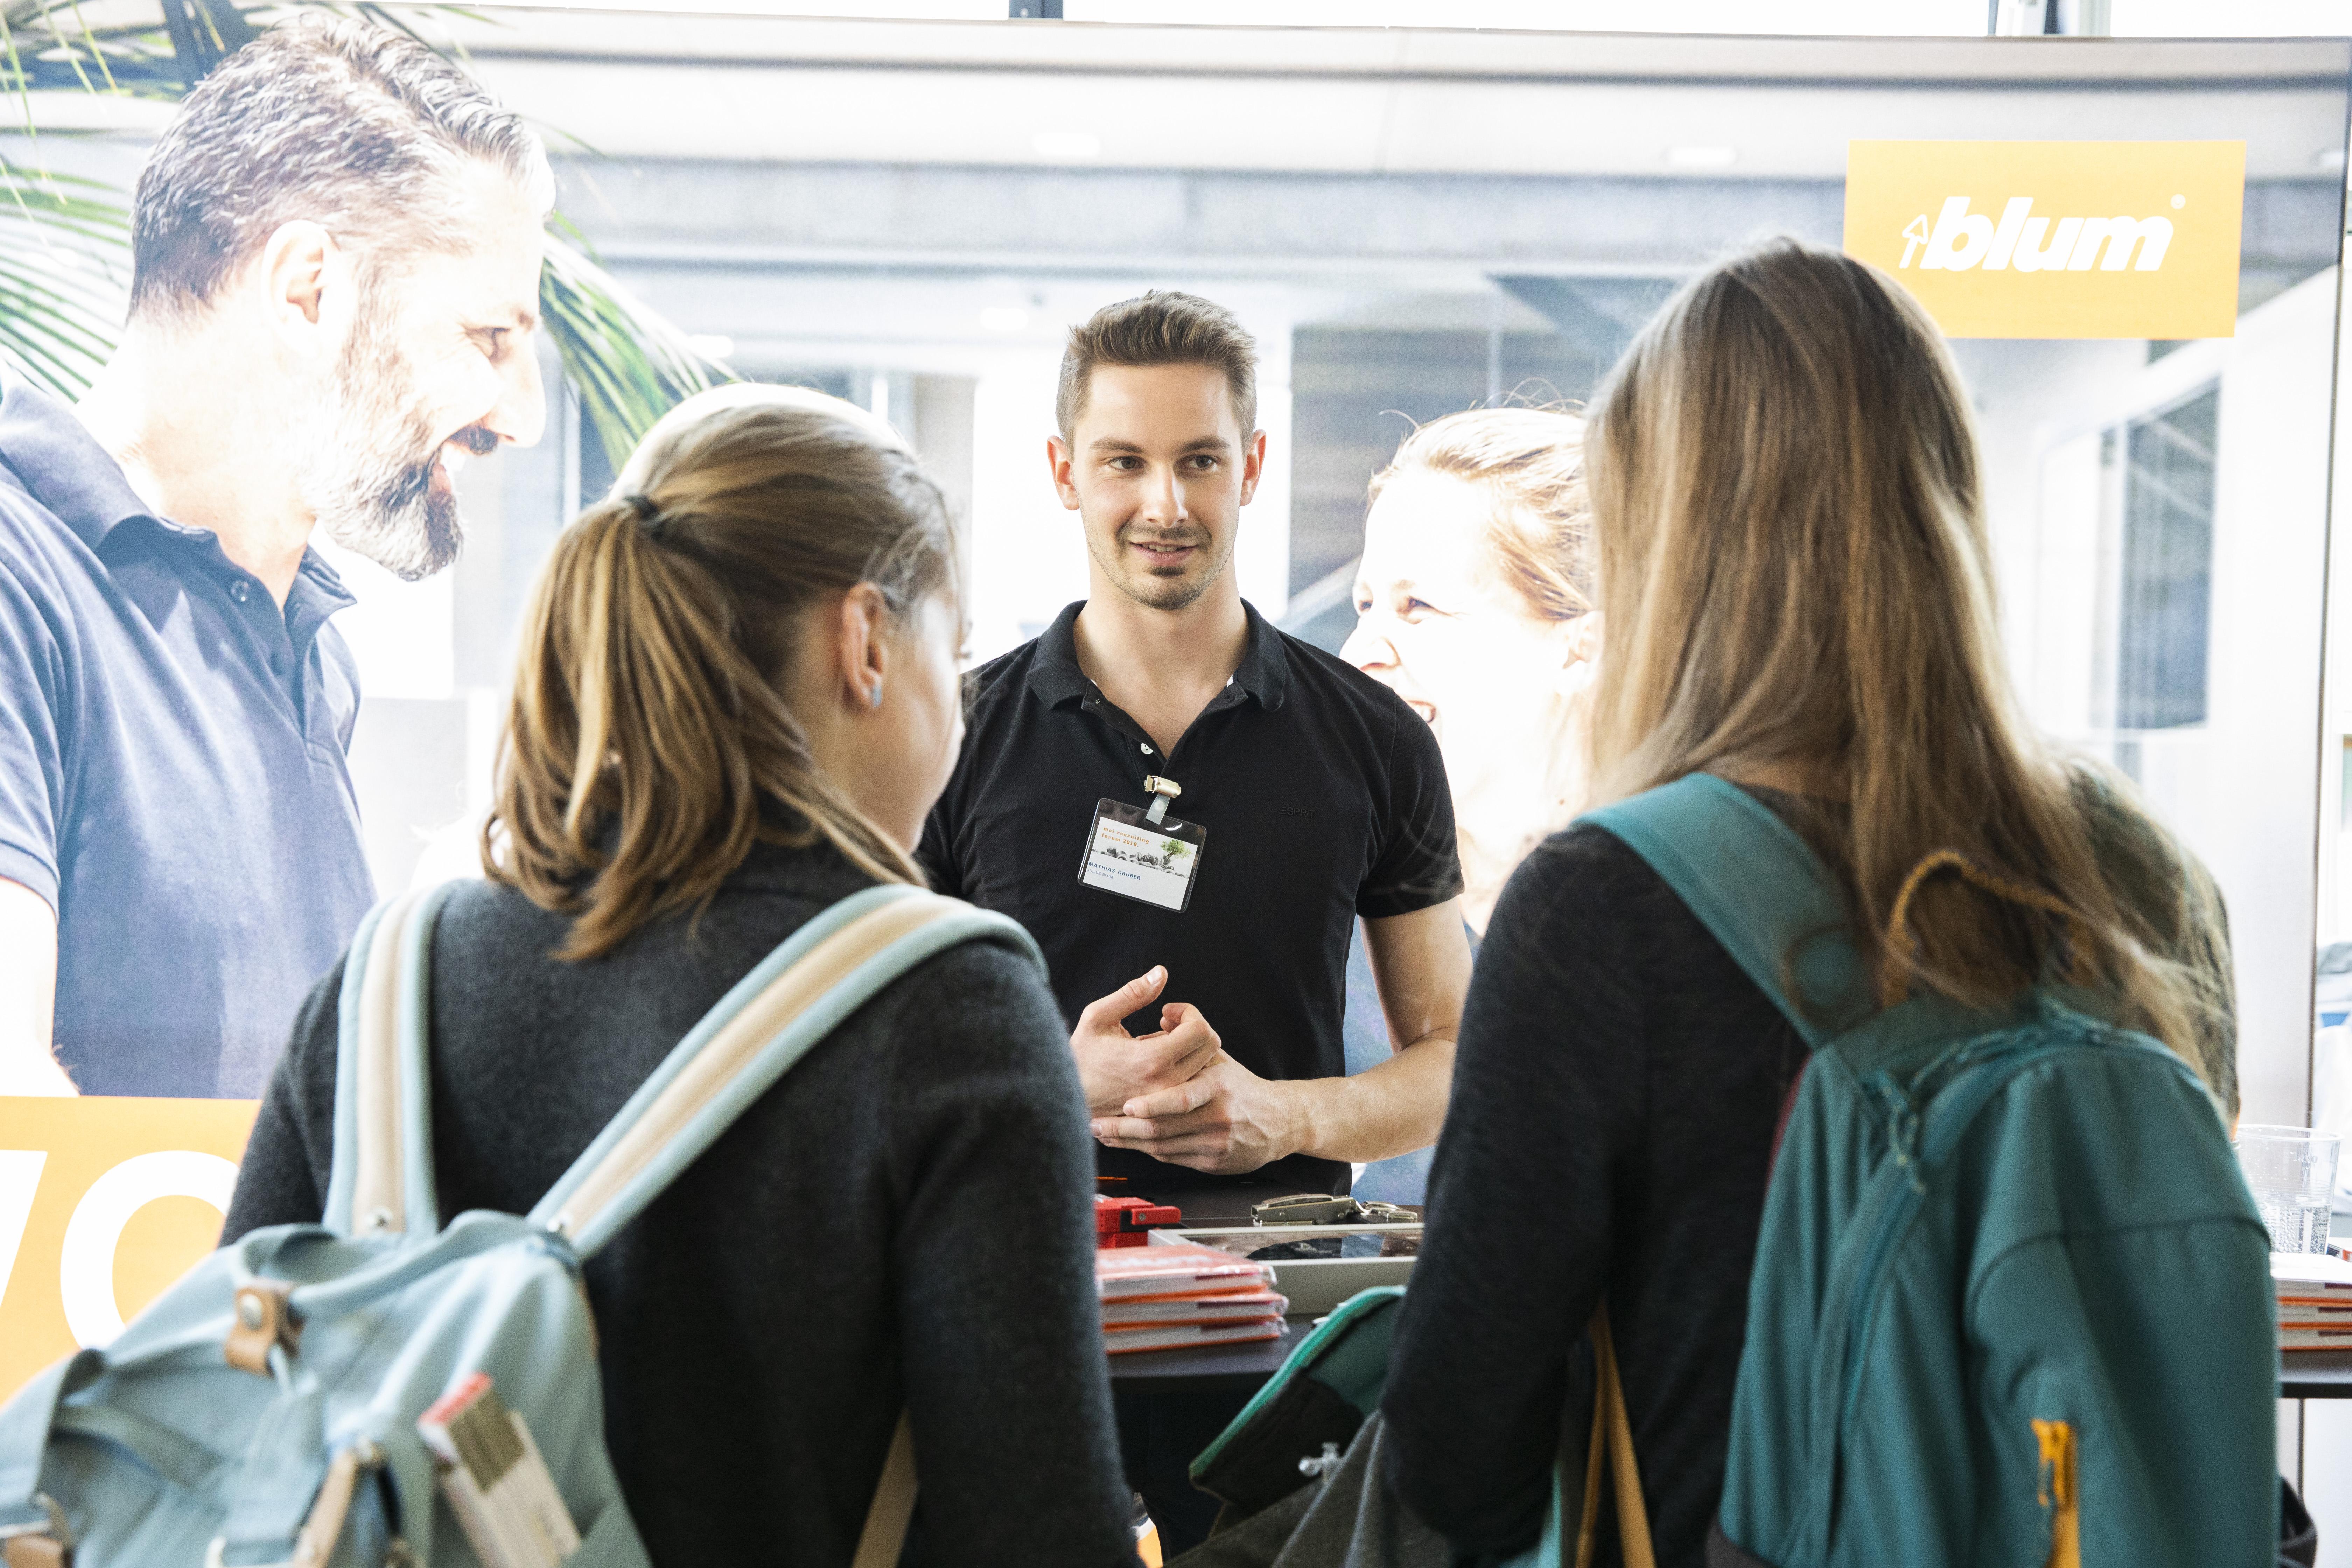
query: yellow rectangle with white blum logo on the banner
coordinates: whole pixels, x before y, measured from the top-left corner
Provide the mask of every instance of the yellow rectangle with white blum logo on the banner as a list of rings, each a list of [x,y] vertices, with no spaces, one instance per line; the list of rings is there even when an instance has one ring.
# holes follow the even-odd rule
[[[1851,141],[1846,254],[1955,339],[2237,336],[2244,141]]]

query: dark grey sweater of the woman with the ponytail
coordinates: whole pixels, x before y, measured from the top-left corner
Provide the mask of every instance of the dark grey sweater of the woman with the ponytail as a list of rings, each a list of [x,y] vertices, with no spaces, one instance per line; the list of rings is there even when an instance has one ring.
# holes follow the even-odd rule
[[[527,1211],[694,1020],[833,900],[830,849],[760,849],[689,926],[588,964],[510,889],[433,943],[445,1215]],[[318,1220],[339,976],[310,992],[228,1237]],[[901,1406],[910,1563],[1129,1563],[1094,1298],[1094,1147],[1054,997],[967,943],[854,1013],[588,1262],[604,1434],[654,1561],[847,1563]]]

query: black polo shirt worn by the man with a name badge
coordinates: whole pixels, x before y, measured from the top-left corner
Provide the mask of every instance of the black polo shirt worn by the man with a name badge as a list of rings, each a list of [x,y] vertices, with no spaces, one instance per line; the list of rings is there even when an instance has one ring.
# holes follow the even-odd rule
[[[1411,914],[1463,886],[1437,738],[1395,691],[1244,604],[1242,665],[1160,757],[1077,668],[1080,609],[969,677],[971,726],[924,827],[924,865],[941,891],[1030,929],[1073,1025],[1167,964],[1162,1001],[1197,1006],[1251,1072],[1343,1077],[1355,917]],[[1096,802],[1150,804],[1148,773],[1183,785],[1171,813],[1209,830],[1183,912],[1077,879]],[[1129,1027],[1157,1030],[1160,1004]],[[1141,1192],[1176,1175],[1134,1150],[1098,1157]],[[1345,1192],[1348,1166],[1294,1154],[1249,1180]]]

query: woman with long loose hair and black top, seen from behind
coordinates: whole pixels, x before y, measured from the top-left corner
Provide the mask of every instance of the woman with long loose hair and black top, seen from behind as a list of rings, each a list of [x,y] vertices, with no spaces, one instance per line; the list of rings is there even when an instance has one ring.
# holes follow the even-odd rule
[[[2018,717],[1969,397],[1893,280],[1795,242],[1696,277],[1595,404],[1585,475],[1604,623],[1588,804],[1715,773],[1804,835],[1896,997],[1999,1006],[2093,976],[2098,1006],[2234,1119],[2220,898],[2129,785]],[[1938,851],[2065,919],[1938,877],[1907,903],[1912,940],[1889,940]],[[1578,1342],[1602,1302],[1656,1561],[1708,1559],[1804,1060],[1602,827],[1545,839],[1510,879],[1383,1401],[1390,1479],[1463,1559],[1534,1544],[1562,1436],[1573,1460],[1590,1429]],[[1611,1561],[1613,1528],[1602,1542]]]

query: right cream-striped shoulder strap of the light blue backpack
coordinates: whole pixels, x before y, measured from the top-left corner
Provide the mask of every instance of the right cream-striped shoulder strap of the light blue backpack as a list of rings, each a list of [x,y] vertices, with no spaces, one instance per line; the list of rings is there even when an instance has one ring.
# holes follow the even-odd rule
[[[837,1023],[974,938],[1002,940],[1044,973],[1037,943],[1004,914],[903,884],[840,900],[720,997],[539,1199],[532,1222],[593,1255]]]

